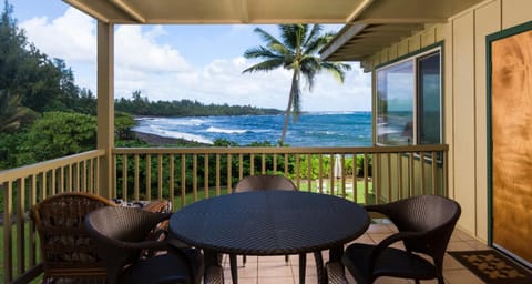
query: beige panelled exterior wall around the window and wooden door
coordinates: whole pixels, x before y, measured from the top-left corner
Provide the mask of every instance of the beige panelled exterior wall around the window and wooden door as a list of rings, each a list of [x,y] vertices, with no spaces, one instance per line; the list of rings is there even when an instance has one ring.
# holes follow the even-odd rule
[[[487,0],[451,17],[447,23],[428,26],[362,62],[375,74],[376,65],[443,40],[449,195],[462,206],[458,225],[484,242],[489,230],[485,37],[531,21],[531,10],[530,0]]]

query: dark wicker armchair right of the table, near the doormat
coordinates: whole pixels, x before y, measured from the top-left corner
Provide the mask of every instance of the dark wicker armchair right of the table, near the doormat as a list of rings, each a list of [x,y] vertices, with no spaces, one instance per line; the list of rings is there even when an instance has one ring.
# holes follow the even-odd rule
[[[437,278],[438,283],[444,283],[443,256],[461,213],[457,202],[420,195],[369,205],[366,210],[386,215],[399,232],[377,245],[354,243],[346,248],[341,261],[357,283],[374,283],[379,276],[411,278],[416,283]],[[406,251],[390,247],[401,241]]]

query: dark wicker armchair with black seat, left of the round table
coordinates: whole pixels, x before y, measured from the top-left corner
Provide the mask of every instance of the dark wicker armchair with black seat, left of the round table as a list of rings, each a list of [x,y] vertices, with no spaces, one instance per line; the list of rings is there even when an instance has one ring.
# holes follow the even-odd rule
[[[86,216],[85,227],[105,263],[108,283],[201,283],[204,263],[198,250],[146,239],[170,216],[120,206],[100,209]],[[146,250],[155,253],[144,257]]]

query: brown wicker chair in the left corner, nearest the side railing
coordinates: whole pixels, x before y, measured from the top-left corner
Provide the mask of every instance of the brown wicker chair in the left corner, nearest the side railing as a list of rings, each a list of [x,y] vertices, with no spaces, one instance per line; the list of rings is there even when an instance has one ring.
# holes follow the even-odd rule
[[[105,282],[105,267],[83,226],[85,215],[113,206],[106,199],[89,193],[62,193],[33,205],[33,220],[41,245],[42,283]]]

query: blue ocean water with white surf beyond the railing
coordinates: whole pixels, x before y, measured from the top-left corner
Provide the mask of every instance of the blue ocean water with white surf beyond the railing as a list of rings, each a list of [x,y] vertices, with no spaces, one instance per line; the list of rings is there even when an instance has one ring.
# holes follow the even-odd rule
[[[226,139],[249,145],[280,139],[284,115],[142,118],[135,131],[161,136],[213,143]],[[371,112],[309,112],[288,125],[285,143],[290,146],[371,145]]]

